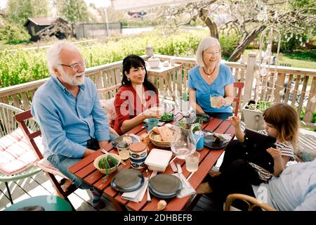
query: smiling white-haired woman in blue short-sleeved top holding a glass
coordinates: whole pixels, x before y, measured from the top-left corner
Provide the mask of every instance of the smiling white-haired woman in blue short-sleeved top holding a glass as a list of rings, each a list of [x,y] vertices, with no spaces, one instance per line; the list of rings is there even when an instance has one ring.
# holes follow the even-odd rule
[[[197,66],[189,73],[187,86],[190,105],[196,113],[206,113],[222,120],[232,115],[232,72],[220,63],[220,43],[213,37],[205,37],[197,48]],[[211,95],[217,94],[216,105],[211,105]]]

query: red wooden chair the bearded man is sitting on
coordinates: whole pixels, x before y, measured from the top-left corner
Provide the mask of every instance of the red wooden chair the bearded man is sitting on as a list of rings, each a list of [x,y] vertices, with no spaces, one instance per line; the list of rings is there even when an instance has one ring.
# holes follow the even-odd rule
[[[25,112],[16,114],[15,120],[18,121],[18,124],[20,125],[23,131],[23,134],[25,135],[27,141],[29,141],[29,144],[32,146],[32,149],[34,150],[34,153],[37,155],[37,157],[40,160],[37,163],[37,165],[39,165],[39,167],[41,167],[41,169],[44,170],[44,172],[46,173],[46,176],[48,176],[48,179],[51,181],[51,183],[55,187],[55,190],[57,191],[58,195],[61,198],[64,198],[65,200],[67,200],[70,203],[70,205],[72,205],[72,203],[68,199],[68,196],[74,191],[76,191],[77,187],[72,183],[72,181],[70,181],[70,179],[67,179],[65,175],[63,175],[58,169],[53,167],[53,165],[51,165],[51,163],[49,163],[48,160],[46,160],[43,157],[41,151],[39,150],[39,147],[37,146],[37,143],[34,141],[34,139],[37,136],[41,136],[41,130],[38,129],[37,131],[31,131],[30,129],[27,128],[26,121],[32,119],[32,117],[33,116],[31,114],[31,110],[27,110]],[[55,177],[56,175],[62,176],[62,179],[58,181],[58,179],[56,179]],[[62,185],[64,184],[66,186],[65,188],[62,188]],[[74,210],[73,205],[72,205],[72,209]]]

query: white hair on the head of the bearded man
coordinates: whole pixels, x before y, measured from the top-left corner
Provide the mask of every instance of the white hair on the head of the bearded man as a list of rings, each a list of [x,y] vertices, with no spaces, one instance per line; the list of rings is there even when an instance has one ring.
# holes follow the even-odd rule
[[[47,51],[47,66],[49,73],[55,77],[54,68],[60,68],[60,51],[67,49],[72,52],[79,52],[76,46],[66,42],[57,42],[51,46]]]

